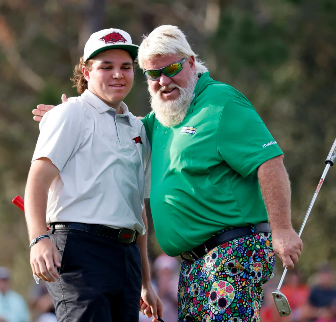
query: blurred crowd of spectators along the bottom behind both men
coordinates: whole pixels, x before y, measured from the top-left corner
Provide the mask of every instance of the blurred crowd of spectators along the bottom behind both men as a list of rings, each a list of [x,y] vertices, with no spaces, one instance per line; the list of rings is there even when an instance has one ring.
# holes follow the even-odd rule
[[[151,263],[152,283],[164,306],[164,321],[177,321],[177,285],[180,261],[165,254]],[[28,301],[10,287],[10,272],[0,267],[0,322],[57,322],[54,307],[45,283],[32,282]],[[291,306],[288,317],[280,317],[273,301],[272,291],[278,278],[264,285],[261,322],[336,322],[335,274],[328,265],[302,282],[297,270],[288,271],[281,288]],[[139,314],[139,322],[152,319]]]

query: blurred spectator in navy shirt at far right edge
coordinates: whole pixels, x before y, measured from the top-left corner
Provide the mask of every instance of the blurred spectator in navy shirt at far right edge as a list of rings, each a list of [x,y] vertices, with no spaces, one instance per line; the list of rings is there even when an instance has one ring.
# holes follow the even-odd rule
[[[316,286],[311,289],[309,295],[307,315],[310,321],[321,322],[321,319],[333,321],[333,312],[336,303],[335,275],[333,270],[328,265],[323,265],[316,275],[316,282]]]

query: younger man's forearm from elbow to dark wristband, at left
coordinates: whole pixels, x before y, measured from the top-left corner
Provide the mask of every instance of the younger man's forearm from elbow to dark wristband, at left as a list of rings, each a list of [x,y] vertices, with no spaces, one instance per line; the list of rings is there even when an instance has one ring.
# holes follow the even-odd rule
[[[36,178],[29,178],[25,190],[25,215],[29,240],[47,233],[46,209],[48,189]]]

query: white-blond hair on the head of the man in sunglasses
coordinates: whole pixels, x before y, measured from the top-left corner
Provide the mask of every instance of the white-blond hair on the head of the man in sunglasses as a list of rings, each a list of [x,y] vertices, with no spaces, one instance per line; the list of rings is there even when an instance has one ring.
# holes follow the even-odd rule
[[[204,62],[197,59],[183,32],[176,26],[163,25],[155,28],[143,40],[138,50],[138,63],[144,70],[145,61],[157,55],[177,54],[181,58],[195,57],[196,72],[204,74],[208,71]]]

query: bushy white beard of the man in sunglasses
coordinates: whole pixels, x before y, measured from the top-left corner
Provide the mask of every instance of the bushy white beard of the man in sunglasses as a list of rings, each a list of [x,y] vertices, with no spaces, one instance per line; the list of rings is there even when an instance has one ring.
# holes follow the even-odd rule
[[[188,111],[190,103],[193,100],[194,89],[198,81],[197,74],[192,71],[190,73],[190,79],[187,83],[187,87],[179,87],[176,84],[171,84],[165,87],[161,87],[160,90],[155,93],[150,86],[148,91],[151,95],[151,107],[155,112],[155,117],[165,127],[173,127],[180,124]],[[163,101],[160,97],[161,92],[167,91],[169,88],[176,87],[180,91],[178,98],[171,101]]]

